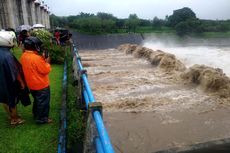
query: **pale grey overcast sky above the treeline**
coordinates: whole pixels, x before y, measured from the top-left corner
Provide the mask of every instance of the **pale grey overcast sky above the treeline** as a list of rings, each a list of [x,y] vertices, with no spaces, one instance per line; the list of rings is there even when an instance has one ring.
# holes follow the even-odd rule
[[[44,0],[51,13],[58,16],[77,15],[80,12],[111,13],[127,18],[136,13],[139,18],[164,19],[173,10],[191,8],[200,19],[230,19],[230,0]]]

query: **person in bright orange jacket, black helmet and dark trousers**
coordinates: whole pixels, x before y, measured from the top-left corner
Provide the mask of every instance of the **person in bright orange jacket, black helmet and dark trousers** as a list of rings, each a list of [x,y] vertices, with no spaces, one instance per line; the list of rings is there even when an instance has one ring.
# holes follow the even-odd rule
[[[39,55],[42,42],[36,37],[25,39],[25,51],[21,56],[22,69],[26,84],[34,98],[33,115],[37,123],[51,123],[49,118],[50,109],[50,81],[51,71],[50,57]]]

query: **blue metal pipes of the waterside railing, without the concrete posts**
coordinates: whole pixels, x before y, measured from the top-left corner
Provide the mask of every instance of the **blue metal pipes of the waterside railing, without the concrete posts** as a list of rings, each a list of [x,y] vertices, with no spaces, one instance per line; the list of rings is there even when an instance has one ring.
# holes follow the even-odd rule
[[[73,45],[73,50],[76,55],[76,60],[77,60],[79,71],[83,71],[84,69],[81,64],[80,56],[78,54],[76,46],[74,45]],[[88,83],[87,75],[83,73],[81,77],[83,81],[83,96],[84,96],[84,100],[86,103],[86,107],[88,109],[88,104],[95,102],[95,99],[94,99],[92,90],[90,88],[90,85]],[[98,110],[94,110],[92,113],[93,113],[93,118],[94,118],[95,125],[97,128],[97,132],[99,135],[99,138],[97,137],[95,139],[97,152],[98,153],[114,153],[114,149],[111,144],[108,132],[104,126],[101,113]]]

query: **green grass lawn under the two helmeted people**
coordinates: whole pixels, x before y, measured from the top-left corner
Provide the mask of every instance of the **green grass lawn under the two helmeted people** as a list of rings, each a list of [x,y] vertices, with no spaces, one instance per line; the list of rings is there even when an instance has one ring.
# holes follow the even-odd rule
[[[17,58],[21,50],[16,48]],[[50,117],[54,123],[37,125],[32,117],[32,105],[18,104],[18,112],[25,124],[12,127],[7,114],[0,108],[0,153],[54,153],[57,152],[60,103],[62,99],[63,66],[52,65],[50,74]],[[31,98],[32,99],[32,98]]]

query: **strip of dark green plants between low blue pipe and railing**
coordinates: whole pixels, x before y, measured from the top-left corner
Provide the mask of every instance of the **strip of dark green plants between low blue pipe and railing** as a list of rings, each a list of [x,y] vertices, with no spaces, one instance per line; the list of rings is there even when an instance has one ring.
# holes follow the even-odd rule
[[[70,53],[70,52],[69,52]],[[85,111],[81,110],[79,98],[82,96],[79,86],[73,86],[72,57],[68,60],[68,84],[67,84],[67,150],[68,152],[81,153],[85,136]]]

